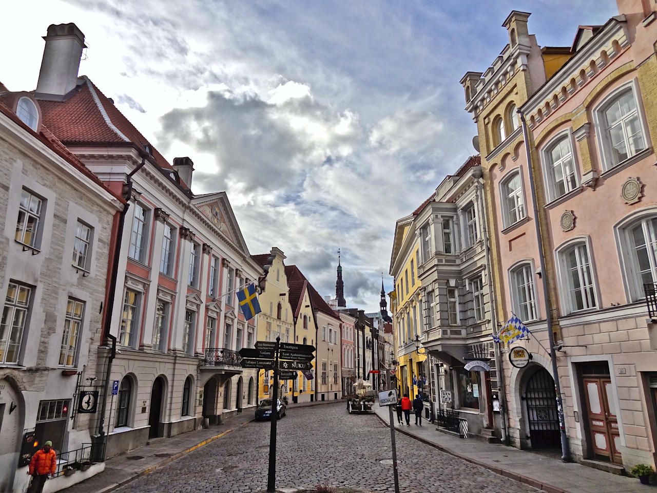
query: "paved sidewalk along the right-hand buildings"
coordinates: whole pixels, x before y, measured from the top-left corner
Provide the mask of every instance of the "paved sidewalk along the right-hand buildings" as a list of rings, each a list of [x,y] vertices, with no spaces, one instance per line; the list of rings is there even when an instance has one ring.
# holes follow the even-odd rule
[[[374,411],[389,425],[388,409],[376,403]],[[396,419],[396,415],[394,415]],[[411,416],[411,421],[413,417]],[[501,444],[489,444],[477,438],[459,438],[436,430],[436,425],[422,420],[422,427],[397,425],[396,430],[447,454],[481,465],[494,473],[524,482],[549,493],[634,493],[648,492],[639,479],[618,476],[578,463],[564,463],[559,458]]]

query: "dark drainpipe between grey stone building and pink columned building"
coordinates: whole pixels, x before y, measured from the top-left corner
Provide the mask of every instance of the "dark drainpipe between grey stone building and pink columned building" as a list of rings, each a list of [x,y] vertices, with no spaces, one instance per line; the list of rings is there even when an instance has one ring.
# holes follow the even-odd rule
[[[112,327],[112,311],[114,309],[114,297],[116,294],[116,281],[118,279],[118,270],[119,270],[119,255],[121,252],[121,239],[123,237],[123,230],[125,225],[125,216],[127,210],[130,206],[130,197],[132,195],[132,176],[137,173],[144,164],[146,164],[146,154],[142,154],[141,163],[137,167],[129,172],[125,179],[125,185],[123,187],[122,195],[125,199],[124,210],[121,211],[119,216],[119,223],[116,231],[116,248],[114,249],[114,259],[112,261],[112,278],[110,279],[110,293],[107,298],[107,314],[105,317],[105,327],[103,332],[105,336],[112,341],[112,348],[110,349],[110,356],[107,358],[107,365],[105,369],[105,382],[102,390],[102,402],[101,402],[101,419],[99,420],[98,425],[98,434],[101,437],[101,443],[105,442],[105,412],[107,410],[107,394],[110,388],[110,375],[112,374],[112,362],[116,358],[116,337],[110,334],[110,328]],[[102,454],[102,459],[104,460],[104,452]]]

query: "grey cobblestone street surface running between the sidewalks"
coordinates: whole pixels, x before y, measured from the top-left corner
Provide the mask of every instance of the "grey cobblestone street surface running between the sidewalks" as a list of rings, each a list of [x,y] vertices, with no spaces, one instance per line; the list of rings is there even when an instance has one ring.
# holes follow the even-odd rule
[[[404,434],[396,438],[401,493],[537,491]],[[392,458],[390,429],[374,415],[350,415],[338,404],[289,411],[278,423],[277,448],[277,488],[394,492],[392,465],[379,462]],[[269,422],[249,423],[116,491],[260,492],[267,486],[268,449]]]

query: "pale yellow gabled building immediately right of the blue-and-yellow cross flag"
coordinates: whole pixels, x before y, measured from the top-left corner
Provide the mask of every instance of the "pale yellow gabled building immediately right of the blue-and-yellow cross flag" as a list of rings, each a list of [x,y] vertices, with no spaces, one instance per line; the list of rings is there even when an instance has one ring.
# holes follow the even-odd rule
[[[281,342],[295,342],[283,251],[272,247],[268,254],[252,255],[252,258],[265,270],[264,289],[258,296],[262,311],[256,320],[256,340],[275,341],[281,337]],[[258,375],[258,400],[273,395],[272,385],[273,371],[261,369]],[[279,398],[291,394],[289,388],[288,381],[279,381]]]

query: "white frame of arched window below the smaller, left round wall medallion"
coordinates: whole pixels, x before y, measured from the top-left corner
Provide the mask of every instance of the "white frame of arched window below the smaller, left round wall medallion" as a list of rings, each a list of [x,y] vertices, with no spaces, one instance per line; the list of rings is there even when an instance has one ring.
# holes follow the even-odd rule
[[[595,302],[594,306],[589,306],[589,307],[583,307],[583,308],[576,308],[574,306],[571,292],[572,292],[572,286],[570,284],[570,277],[569,277],[569,268],[566,260],[566,255],[570,253],[571,250],[574,248],[579,248],[579,247],[585,247],[586,248],[586,254],[588,256],[589,260],[589,270],[590,270],[590,275],[591,275],[591,291],[593,293],[593,302]],[[599,293],[599,286],[598,286],[598,280],[597,280],[597,270],[595,268],[595,260],[593,258],[593,249],[591,248],[591,238],[589,236],[577,236],[574,238],[569,239],[568,241],[562,243],[561,245],[558,245],[557,248],[555,248],[555,260],[556,260],[556,266],[557,266],[557,276],[558,276],[558,284],[559,284],[559,300],[562,308],[562,314],[564,315],[569,315],[569,314],[577,314],[577,313],[583,313],[583,312],[591,312],[594,310],[600,310],[600,293]],[[579,281],[580,281],[580,290],[582,289],[581,287],[581,273],[579,273]]]

